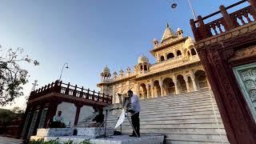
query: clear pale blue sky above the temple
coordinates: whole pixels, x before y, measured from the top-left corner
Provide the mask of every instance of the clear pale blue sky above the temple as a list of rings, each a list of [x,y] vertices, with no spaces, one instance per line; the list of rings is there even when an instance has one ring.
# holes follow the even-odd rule
[[[238,0],[191,0],[196,14],[206,16]],[[175,10],[170,8],[177,2]],[[26,66],[30,82],[39,86],[58,79],[98,90],[99,74],[106,65],[111,73],[133,68],[141,54],[150,58],[153,38],[162,38],[166,22],[176,31],[190,30],[191,14],[186,0],[2,0],[0,45],[22,47],[40,66]],[[24,98],[18,98],[21,106]],[[7,108],[9,108],[8,106]]]

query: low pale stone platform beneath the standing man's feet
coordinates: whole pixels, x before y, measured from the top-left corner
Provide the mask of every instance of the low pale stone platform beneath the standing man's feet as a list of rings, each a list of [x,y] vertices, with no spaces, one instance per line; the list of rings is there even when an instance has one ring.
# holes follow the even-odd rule
[[[163,135],[147,134],[142,135],[140,138],[129,137],[129,135],[116,135],[110,138],[91,138],[88,136],[61,136],[61,137],[38,137],[32,136],[30,139],[44,138],[44,141],[55,140],[58,138],[58,142],[64,143],[67,141],[73,141],[74,143],[88,141],[94,144],[162,144],[164,140]]]

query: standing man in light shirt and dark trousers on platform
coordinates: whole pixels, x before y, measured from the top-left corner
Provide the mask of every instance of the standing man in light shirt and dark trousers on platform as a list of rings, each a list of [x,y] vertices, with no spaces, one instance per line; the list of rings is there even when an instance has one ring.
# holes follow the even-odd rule
[[[132,90],[128,90],[128,99],[130,99],[130,105],[128,107],[128,112],[131,113],[131,122],[134,126],[134,130],[138,134],[138,137],[140,137],[139,133],[139,112],[141,111],[141,105],[138,100],[138,96],[133,93]],[[136,137],[136,134],[133,130],[133,134],[130,135],[130,137]]]

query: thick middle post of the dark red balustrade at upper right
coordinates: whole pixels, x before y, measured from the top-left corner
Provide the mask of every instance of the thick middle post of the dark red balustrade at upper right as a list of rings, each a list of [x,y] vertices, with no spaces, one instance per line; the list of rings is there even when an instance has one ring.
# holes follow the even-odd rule
[[[230,14],[227,13],[226,7],[221,5],[219,6],[219,10],[221,10],[222,16],[224,18],[224,27],[227,30],[233,29],[234,28],[234,22],[230,18]]]

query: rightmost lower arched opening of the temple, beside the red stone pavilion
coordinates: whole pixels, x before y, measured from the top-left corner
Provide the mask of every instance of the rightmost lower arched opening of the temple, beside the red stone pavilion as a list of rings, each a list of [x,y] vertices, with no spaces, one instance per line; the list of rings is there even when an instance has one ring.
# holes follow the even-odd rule
[[[199,89],[208,87],[206,72],[204,72],[203,70],[197,70],[194,73],[194,78]]]

